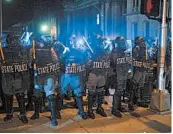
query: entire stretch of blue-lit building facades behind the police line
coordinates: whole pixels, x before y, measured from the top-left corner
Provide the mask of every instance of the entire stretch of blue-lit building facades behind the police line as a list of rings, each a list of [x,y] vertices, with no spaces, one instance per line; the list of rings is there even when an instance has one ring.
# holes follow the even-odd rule
[[[171,0],[168,0],[168,17],[171,17]],[[162,6],[160,6],[160,16]],[[136,36],[159,38],[161,22],[149,19],[140,13],[141,0],[73,0],[66,1],[65,16],[67,35],[71,33],[86,37],[100,28],[105,37],[114,39],[125,36],[134,40]],[[171,22],[168,23],[170,36]]]

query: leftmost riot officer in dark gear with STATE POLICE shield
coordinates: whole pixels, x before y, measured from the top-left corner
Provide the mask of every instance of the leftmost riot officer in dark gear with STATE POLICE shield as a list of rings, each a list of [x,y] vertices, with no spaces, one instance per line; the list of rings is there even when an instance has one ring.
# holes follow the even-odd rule
[[[7,36],[7,47],[3,48],[2,88],[5,93],[6,117],[4,121],[13,117],[13,95],[16,95],[20,108],[20,120],[28,123],[25,110],[24,92],[29,86],[28,55],[20,45],[18,37]],[[2,55],[1,55],[2,56]]]

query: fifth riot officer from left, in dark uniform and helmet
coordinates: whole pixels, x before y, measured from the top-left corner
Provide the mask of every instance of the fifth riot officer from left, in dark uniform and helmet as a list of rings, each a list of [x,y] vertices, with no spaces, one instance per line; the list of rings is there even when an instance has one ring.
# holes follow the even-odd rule
[[[121,106],[121,96],[123,96],[126,90],[128,71],[131,66],[132,57],[126,55],[126,43],[123,37],[117,37],[115,40],[117,48],[112,51],[111,65],[113,65],[116,79],[115,93],[113,95],[113,108],[112,114],[121,117],[120,112],[124,112],[125,109]]]

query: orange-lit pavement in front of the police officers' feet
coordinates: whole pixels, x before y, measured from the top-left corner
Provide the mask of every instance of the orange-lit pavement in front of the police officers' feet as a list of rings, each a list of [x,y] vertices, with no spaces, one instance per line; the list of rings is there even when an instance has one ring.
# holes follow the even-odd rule
[[[114,133],[166,133],[171,132],[171,115],[157,115],[146,108],[137,108],[135,112],[127,112],[122,118],[110,114],[108,105],[104,105],[108,117],[96,115],[96,119],[82,120],[76,117],[77,109],[67,108],[61,111],[62,119],[55,128],[49,127],[49,112],[42,113],[40,119],[30,120],[33,112],[28,112],[29,123],[23,125],[17,118],[7,123],[3,122],[4,115],[0,114],[0,132],[23,133],[67,133],[67,132],[114,132]]]

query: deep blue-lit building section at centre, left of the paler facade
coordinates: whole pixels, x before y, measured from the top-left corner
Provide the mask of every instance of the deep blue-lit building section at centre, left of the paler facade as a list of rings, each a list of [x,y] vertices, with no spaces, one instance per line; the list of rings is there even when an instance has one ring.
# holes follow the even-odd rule
[[[67,35],[89,36],[100,29],[105,37],[111,39],[125,35],[124,0],[74,0],[66,3]]]

